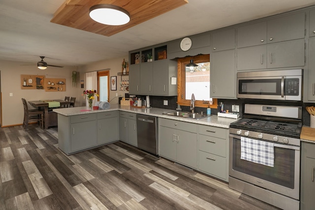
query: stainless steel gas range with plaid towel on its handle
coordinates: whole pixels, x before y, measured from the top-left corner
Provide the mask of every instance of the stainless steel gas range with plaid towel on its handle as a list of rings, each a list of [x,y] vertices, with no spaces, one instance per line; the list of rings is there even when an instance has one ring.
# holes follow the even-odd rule
[[[285,210],[300,206],[302,107],[245,104],[230,125],[229,187]]]

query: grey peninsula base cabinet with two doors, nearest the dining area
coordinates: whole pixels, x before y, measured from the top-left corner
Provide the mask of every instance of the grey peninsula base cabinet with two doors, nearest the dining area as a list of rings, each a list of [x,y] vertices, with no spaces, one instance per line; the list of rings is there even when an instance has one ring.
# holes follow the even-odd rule
[[[67,155],[115,141],[118,141],[118,111],[58,114],[58,147]]]

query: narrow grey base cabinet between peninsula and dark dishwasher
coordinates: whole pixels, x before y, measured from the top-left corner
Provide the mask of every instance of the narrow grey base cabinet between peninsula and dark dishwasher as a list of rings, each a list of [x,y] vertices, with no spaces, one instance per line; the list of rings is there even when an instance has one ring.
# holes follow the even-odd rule
[[[137,147],[137,124],[135,113],[124,111],[119,112],[119,139]]]

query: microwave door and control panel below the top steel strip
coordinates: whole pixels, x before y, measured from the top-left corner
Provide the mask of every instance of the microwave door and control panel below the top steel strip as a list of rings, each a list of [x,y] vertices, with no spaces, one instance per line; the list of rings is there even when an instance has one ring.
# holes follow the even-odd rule
[[[300,101],[301,79],[299,76],[238,78],[237,97]]]

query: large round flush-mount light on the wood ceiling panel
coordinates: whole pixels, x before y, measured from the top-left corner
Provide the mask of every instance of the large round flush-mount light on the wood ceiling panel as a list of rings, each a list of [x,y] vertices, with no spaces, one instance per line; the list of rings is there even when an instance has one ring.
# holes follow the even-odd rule
[[[97,4],[90,8],[90,17],[98,23],[120,26],[130,21],[129,12],[112,4]]]

